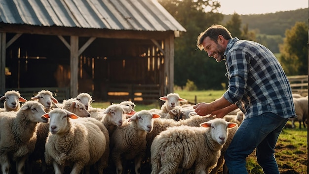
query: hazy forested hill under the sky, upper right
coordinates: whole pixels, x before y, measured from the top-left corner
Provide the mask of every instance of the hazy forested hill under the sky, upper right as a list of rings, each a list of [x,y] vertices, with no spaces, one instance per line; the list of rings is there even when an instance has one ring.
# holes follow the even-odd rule
[[[296,22],[308,24],[308,8],[293,11],[258,15],[239,15],[242,25],[248,24],[249,30],[258,30],[258,33],[267,35],[281,35],[285,37],[285,30],[291,29]],[[224,15],[223,24],[231,19],[232,15]]]

